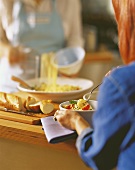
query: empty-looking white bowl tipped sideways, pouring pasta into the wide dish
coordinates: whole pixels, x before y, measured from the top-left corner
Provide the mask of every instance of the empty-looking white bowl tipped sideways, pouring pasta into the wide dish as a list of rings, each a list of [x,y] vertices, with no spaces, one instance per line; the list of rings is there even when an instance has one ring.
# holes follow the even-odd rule
[[[80,71],[84,57],[85,51],[82,47],[67,47],[54,55],[52,63],[60,73],[70,76]]]

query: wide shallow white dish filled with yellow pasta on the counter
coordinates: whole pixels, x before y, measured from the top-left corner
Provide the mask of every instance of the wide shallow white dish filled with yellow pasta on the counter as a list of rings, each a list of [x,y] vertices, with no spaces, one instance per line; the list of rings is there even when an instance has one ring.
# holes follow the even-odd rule
[[[36,78],[26,82],[32,86],[32,89],[19,84],[17,86],[19,91],[26,92],[39,100],[50,99],[57,103],[82,98],[93,86],[93,81],[84,78],[57,77],[55,81]]]

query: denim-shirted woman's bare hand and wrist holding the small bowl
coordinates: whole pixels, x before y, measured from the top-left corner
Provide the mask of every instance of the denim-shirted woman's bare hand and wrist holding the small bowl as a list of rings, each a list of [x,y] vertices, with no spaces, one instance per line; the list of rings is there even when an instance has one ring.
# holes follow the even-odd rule
[[[56,120],[65,128],[77,131],[78,135],[90,125],[79,113],[71,110],[57,110],[54,114]]]

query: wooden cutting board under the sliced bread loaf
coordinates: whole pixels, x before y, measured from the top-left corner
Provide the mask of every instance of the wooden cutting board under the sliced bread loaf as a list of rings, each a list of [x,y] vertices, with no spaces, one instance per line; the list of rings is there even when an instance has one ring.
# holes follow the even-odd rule
[[[22,98],[26,98],[28,96],[28,94],[24,92],[18,92],[14,94]],[[53,103],[53,104],[54,104],[54,110],[49,114],[35,113],[32,116],[26,116],[26,115],[12,113],[12,112],[0,111],[0,119],[11,120],[11,121],[16,121],[16,122],[21,122],[21,123],[26,123],[31,125],[39,125],[41,124],[40,121],[41,118],[52,116],[54,115],[55,111],[59,109],[59,104],[57,103]]]

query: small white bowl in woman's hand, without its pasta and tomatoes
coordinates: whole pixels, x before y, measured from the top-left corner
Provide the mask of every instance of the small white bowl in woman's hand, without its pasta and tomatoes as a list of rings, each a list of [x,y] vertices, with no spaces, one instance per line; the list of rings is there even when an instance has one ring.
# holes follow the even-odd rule
[[[88,103],[93,108],[92,110],[72,110],[72,111],[77,111],[90,125],[92,125],[92,115],[97,109],[98,102],[96,100],[89,100]],[[63,106],[69,105],[69,104],[70,104],[70,101],[62,102],[59,105],[60,110],[68,110],[68,109],[65,109]]]

